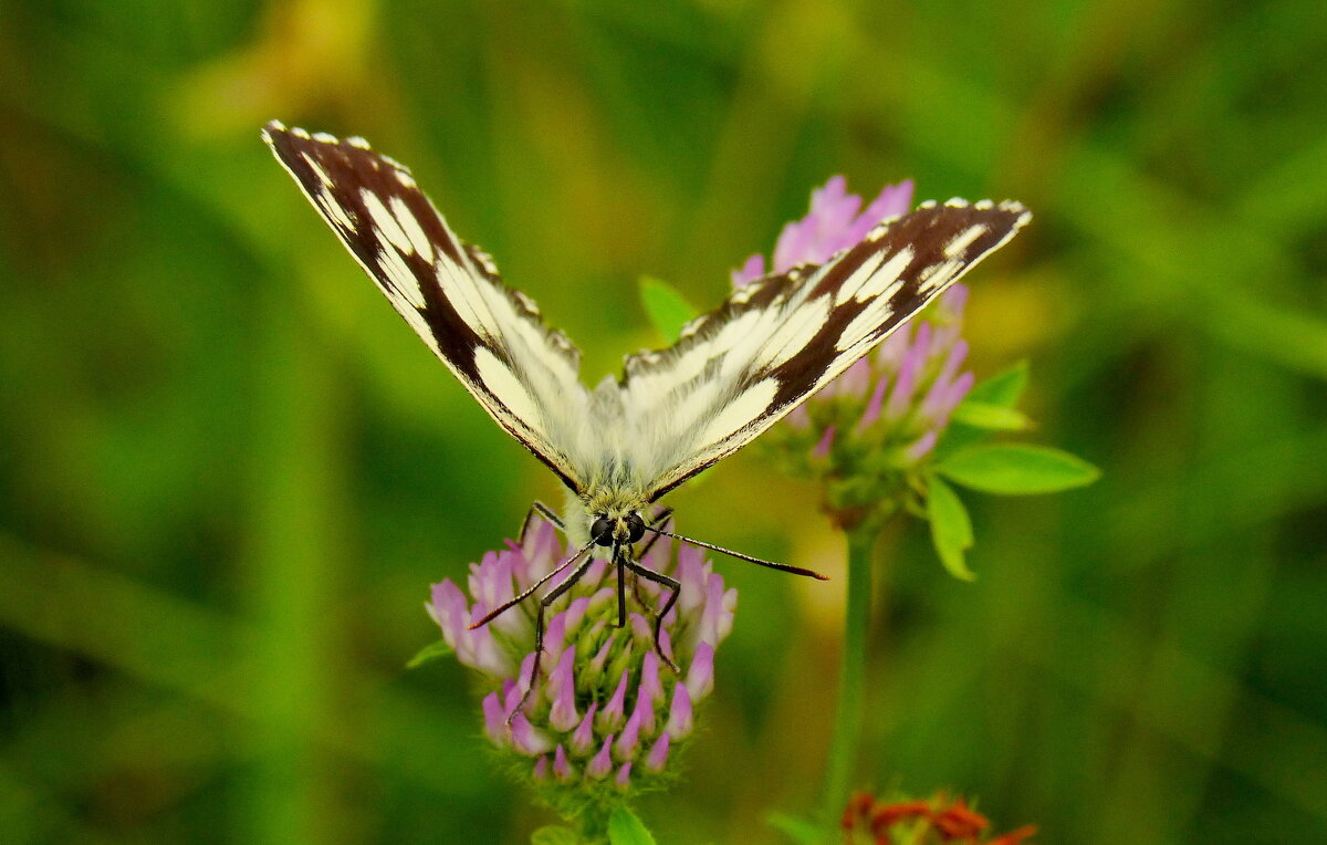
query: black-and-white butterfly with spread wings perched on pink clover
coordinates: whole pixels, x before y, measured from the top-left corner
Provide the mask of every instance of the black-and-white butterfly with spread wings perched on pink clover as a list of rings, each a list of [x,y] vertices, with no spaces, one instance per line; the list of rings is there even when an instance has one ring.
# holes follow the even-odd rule
[[[884,341],[1030,219],[1019,203],[924,203],[886,220],[820,265],[772,273],[691,321],[673,346],[626,357],[621,378],[593,390],[580,353],[547,328],[539,308],[508,288],[491,257],[456,237],[410,171],[362,138],[338,139],[271,122],[263,138],[322,219],[425,345],[480,406],[567,486],[565,519],[536,503],[579,549],[472,627],[571,574],[539,600],[533,688],[544,612],[589,568],[594,547],[617,568],[618,625],[625,572],[662,585],[654,646],[681,585],[644,566],[646,533],[675,537],[794,574],[664,528],[658,500],[742,448]],[[519,708],[518,708],[519,710]]]

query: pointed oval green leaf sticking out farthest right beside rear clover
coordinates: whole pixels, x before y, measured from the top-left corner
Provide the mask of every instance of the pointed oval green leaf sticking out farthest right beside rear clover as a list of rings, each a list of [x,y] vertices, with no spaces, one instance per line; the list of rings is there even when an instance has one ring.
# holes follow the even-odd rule
[[[936,467],[949,480],[987,493],[1055,493],[1091,484],[1101,471],[1068,452],[1026,443],[973,446]]]

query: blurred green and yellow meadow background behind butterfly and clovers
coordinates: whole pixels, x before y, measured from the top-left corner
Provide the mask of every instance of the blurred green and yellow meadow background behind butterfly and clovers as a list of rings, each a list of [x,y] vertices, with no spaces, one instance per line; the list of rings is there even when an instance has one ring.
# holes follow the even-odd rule
[[[881,548],[864,783],[1039,841],[1327,841],[1319,3],[0,0],[0,840],[516,842],[427,586],[531,460],[259,141],[362,134],[587,350],[653,344],[835,172],[1013,196],[978,374],[1104,478]],[[841,574],[743,454],[681,527]],[[843,580],[742,590],[662,842],[815,807]]]

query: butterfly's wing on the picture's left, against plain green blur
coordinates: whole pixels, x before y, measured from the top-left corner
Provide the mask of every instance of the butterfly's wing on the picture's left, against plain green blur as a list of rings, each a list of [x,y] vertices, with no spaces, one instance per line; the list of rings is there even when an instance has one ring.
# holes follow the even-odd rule
[[[462,243],[410,171],[362,138],[273,121],[263,138],[410,328],[486,411],[575,492],[593,456],[580,353],[492,260]]]

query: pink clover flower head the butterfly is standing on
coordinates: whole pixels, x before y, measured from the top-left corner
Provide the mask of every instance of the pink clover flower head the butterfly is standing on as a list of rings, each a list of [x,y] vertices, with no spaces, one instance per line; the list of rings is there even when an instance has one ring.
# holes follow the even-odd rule
[[[661,634],[665,654],[681,669],[674,674],[653,645],[650,614],[666,593],[628,573],[629,614],[620,629],[616,572],[596,560],[549,608],[544,670],[518,711],[535,661],[537,596],[483,627],[468,626],[573,553],[552,524],[531,517],[519,543],[471,565],[468,598],[445,580],[433,585],[427,605],[456,658],[478,675],[486,736],[523,760],[536,789],[555,805],[579,791],[637,791],[661,780],[677,746],[693,732],[695,706],[714,687],[714,653],[733,630],[736,608],[736,590],[725,586],[699,549],[657,539],[641,562],[682,584]]]

